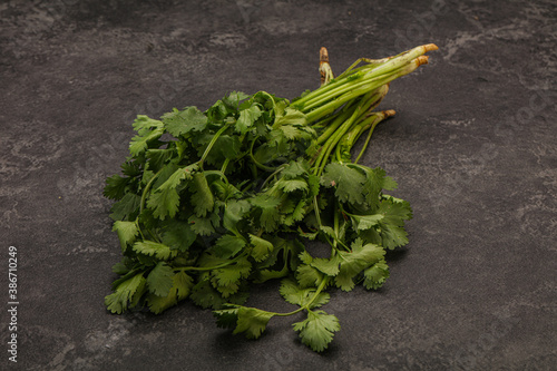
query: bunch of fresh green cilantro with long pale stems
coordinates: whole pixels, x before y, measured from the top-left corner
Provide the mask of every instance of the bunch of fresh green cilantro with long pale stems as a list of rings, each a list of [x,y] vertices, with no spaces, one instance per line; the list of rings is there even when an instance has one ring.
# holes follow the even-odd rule
[[[292,102],[234,91],[206,111],[137,116],[130,156],[104,192],[116,201],[110,217],[123,253],[108,310],[160,313],[189,299],[247,338],[274,316],[303,312],[294,330],[312,350],[325,350],[340,330],[322,309],[326,290],[380,287],[389,277],[385,251],[408,243],[409,203],[383,193],[397,187],[383,169],[358,160],[375,125],[393,114],[373,111],[389,82],[436,49],[358,60]],[[326,256],[309,241],[326,244]],[[268,280],[281,280],[281,295],[296,309],[244,305],[251,285]]]

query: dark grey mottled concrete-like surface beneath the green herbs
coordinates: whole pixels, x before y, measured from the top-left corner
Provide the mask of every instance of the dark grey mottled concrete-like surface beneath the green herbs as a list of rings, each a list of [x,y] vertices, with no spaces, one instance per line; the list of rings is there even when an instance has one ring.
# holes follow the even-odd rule
[[[295,97],[335,71],[436,42],[391,85],[364,163],[411,202],[379,292],[332,293],[330,350],[289,321],[257,341],[184,303],[111,315],[120,252],[104,180],[137,114],[231,90]],[[2,1],[0,297],[18,248],[18,370],[555,370],[557,4],[536,1]],[[276,286],[253,302],[285,309]],[[1,304],[1,303],[0,303]],[[7,306],[7,304],[1,304]]]

